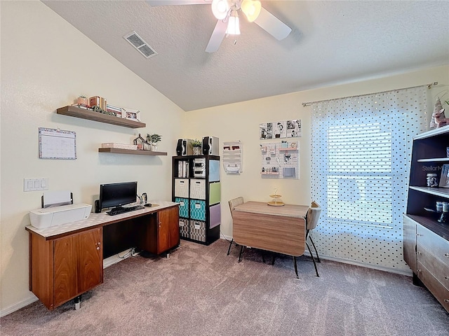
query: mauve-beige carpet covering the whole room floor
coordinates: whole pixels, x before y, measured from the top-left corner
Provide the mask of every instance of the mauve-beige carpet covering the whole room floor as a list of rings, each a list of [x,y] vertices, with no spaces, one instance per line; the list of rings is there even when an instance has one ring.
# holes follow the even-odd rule
[[[40,302],[1,318],[6,335],[449,335],[449,314],[408,276],[308,257],[278,256],[227,241],[181,241],[170,258],[131,257],[105,283],[48,311]],[[267,260],[269,256],[266,255]]]

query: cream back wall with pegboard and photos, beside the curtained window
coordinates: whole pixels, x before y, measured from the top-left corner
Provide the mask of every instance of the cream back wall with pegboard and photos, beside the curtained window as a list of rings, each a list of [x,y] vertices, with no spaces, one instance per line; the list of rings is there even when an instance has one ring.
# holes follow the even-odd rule
[[[449,66],[438,66],[422,71],[413,71],[396,76],[376,78],[358,83],[323,87],[316,90],[283,94],[248,102],[217,106],[210,109],[191,111],[185,114],[183,137],[198,138],[214,136],[223,141],[241,140],[243,144],[243,173],[221,176],[222,183],[222,225],[225,237],[232,237],[232,221],[227,201],[243,196],[246,200],[267,202],[274,188],[279,190],[283,202],[309,204],[310,192],[310,117],[311,108],[302,106],[302,102],[355,96],[394,90],[403,87],[424,85],[437,81],[439,84],[429,90],[429,99],[449,84]],[[432,111],[429,104],[429,114]],[[368,116],[369,117],[369,116]],[[260,177],[260,144],[269,141],[259,140],[259,124],[276,120],[302,120],[300,144],[300,179],[274,180]],[[221,155],[221,154],[220,154]],[[313,169],[319,169],[314,167]]]

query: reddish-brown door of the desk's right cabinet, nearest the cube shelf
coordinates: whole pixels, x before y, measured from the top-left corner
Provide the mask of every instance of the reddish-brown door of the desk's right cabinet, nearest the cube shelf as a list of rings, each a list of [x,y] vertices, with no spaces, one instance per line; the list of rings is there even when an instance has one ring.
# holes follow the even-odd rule
[[[179,210],[177,207],[158,212],[158,253],[177,246],[180,242]]]

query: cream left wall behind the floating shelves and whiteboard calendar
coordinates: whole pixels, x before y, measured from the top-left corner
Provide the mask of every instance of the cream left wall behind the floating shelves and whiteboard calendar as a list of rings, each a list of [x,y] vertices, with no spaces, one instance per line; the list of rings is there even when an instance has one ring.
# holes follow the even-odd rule
[[[79,94],[140,109],[147,127],[133,130],[55,113]],[[23,192],[23,179],[47,177],[49,190],[71,190],[75,203],[92,204],[100,183],[120,181],[138,181],[139,193],[170,200],[182,113],[40,1],[1,1],[2,312],[35,300],[28,290],[25,225],[28,211],[40,207],[42,192]],[[76,160],[39,160],[38,127],[76,132]],[[129,144],[138,132],[163,134],[159,150],[168,155],[98,153],[102,142]]]

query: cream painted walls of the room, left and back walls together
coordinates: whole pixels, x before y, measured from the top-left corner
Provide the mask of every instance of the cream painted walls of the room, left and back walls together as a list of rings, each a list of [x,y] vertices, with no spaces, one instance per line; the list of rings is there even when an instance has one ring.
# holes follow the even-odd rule
[[[220,144],[239,139],[244,148],[244,171],[238,176],[222,171],[221,179],[221,229],[231,237],[227,200],[233,197],[267,201],[278,188],[284,202],[310,201],[310,108],[303,107],[302,102],[434,81],[449,83],[449,66],[441,66],[184,113],[42,3],[0,1],[0,5],[1,314],[35,299],[28,290],[28,237],[24,228],[29,224],[28,211],[39,207],[41,192],[24,193],[24,178],[48,177],[50,190],[72,190],[75,202],[92,204],[99,183],[131,180],[139,182],[139,193],[170,200],[170,156],[175,155],[178,138],[212,135],[220,138]],[[429,97],[433,99],[438,90],[431,90]],[[140,109],[147,127],[130,130],[55,113],[78,94],[101,95],[111,104]],[[302,120],[300,179],[261,179],[259,124],[296,118]],[[76,132],[77,159],[39,160],[38,127]],[[98,153],[100,143],[128,143],[137,132],[163,134],[159,149],[168,155],[141,158]]]

